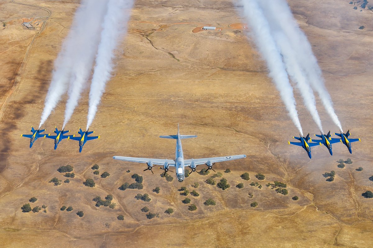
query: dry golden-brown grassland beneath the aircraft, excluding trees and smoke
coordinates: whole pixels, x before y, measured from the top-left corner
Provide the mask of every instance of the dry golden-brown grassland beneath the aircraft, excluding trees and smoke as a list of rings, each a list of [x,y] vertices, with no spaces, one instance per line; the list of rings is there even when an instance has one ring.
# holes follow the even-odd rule
[[[237,30],[245,20],[231,1],[136,1],[91,126],[101,139],[85,144],[82,153],[71,140],[63,140],[56,151],[50,139],[29,149],[29,140],[19,136],[38,126],[53,61],[79,3],[18,1],[0,0],[1,247],[373,247],[373,199],[361,196],[373,191],[368,179],[373,175],[372,11],[354,10],[347,0],[289,1],[313,46],[344,131],[350,128],[362,141],[353,143],[352,154],[342,144],[333,146],[333,156],[325,147],[314,147],[309,160],[303,150],[287,144],[296,128],[260,55]],[[24,29],[25,18],[43,26]],[[192,32],[203,25],[222,27],[222,32]],[[361,25],[364,30],[358,29]],[[88,93],[67,125],[72,132],[85,127]],[[319,133],[296,90],[295,97],[304,132]],[[61,126],[65,102],[66,96],[44,125],[47,132]],[[325,131],[338,131],[321,104],[318,109]],[[170,172],[174,180],[166,182],[156,166],[153,175],[142,171],[145,166],[112,159],[172,159],[175,142],[158,136],[175,134],[177,123],[182,134],[198,135],[183,140],[186,158],[247,155],[214,165],[230,188],[206,184],[209,176],[196,172],[182,183]],[[352,165],[338,168],[336,160],[347,158]],[[75,173],[69,184],[57,172],[67,164]],[[94,175],[94,164],[110,176]],[[359,166],[364,170],[356,171]],[[226,168],[232,172],[224,173]],[[331,170],[335,180],[327,182],[322,174]],[[244,172],[249,181],[239,177]],[[259,172],[266,176],[263,181],[254,177]],[[134,173],[144,177],[144,188],[119,190],[134,181]],[[53,177],[62,184],[48,183]],[[94,179],[94,188],[82,184],[87,178]],[[250,186],[253,181],[263,188]],[[273,181],[286,183],[289,194],[265,186]],[[197,206],[191,212],[178,189],[192,191],[194,182],[200,184],[195,189],[200,196],[188,195]],[[239,182],[244,188],[235,187]],[[157,186],[159,194],[152,191]],[[136,200],[138,193],[149,194],[151,201]],[[95,207],[92,199],[107,194],[113,195],[115,209]],[[291,199],[294,195],[298,201]],[[38,198],[31,206],[45,204],[47,213],[23,213],[21,206],[31,197]],[[205,206],[207,198],[216,206]],[[256,208],[250,207],[253,201]],[[63,205],[73,211],[60,211]],[[147,219],[140,211],[144,206],[159,218]],[[169,207],[171,215],[164,213]],[[119,214],[123,221],[117,220]]]

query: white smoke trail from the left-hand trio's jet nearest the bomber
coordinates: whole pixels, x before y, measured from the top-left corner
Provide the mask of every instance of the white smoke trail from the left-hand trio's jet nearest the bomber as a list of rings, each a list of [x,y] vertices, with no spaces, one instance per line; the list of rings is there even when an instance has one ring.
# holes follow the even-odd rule
[[[113,70],[114,50],[120,36],[127,31],[132,5],[133,0],[109,0],[91,82],[87,130],[96,115],[97,105],[100,103],[106,82],[110,79],[110,73]]]

